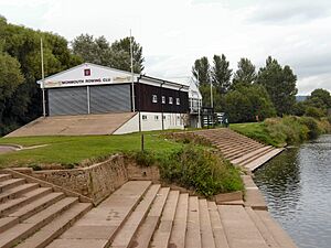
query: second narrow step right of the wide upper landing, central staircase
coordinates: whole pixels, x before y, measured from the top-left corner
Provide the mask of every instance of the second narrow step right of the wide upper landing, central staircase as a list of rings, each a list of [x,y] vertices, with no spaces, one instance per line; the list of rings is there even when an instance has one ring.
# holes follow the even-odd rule
[[[142,223],[142,225],[139,227],[136,237],[131,244],[131,248],[148,248],[151,237],[159,225],[160,217],[166,204],[166,200],[168,197],[170,187],[162,187],[157,194],[157,197],[154,202],[152,203],[152,206]]]

